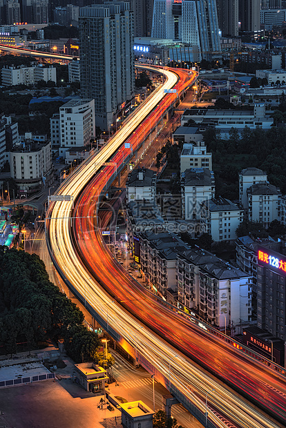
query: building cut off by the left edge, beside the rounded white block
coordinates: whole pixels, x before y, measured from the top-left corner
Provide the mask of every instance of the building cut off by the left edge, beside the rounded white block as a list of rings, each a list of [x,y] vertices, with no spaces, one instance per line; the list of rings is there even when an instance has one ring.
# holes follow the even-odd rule
[[[18,124],[10,116],[0,115],[0,168],[10,161],[9,152],[19,142]]]

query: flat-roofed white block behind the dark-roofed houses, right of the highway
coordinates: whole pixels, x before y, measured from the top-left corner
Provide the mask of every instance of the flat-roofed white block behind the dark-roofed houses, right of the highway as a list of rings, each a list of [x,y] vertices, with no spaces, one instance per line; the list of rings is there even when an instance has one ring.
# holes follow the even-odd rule
[[[212,171],[212,154],[207,153],[207,147],[204,143],[184,144],[180,155],[181,174],[189,168],[206,168]]]

